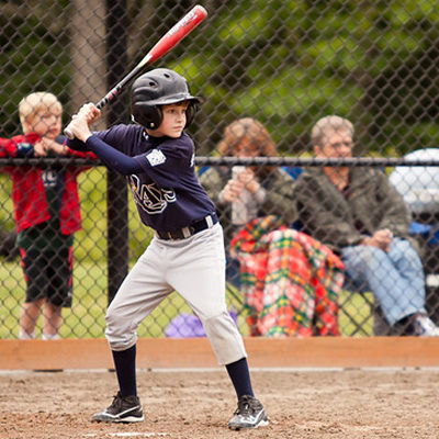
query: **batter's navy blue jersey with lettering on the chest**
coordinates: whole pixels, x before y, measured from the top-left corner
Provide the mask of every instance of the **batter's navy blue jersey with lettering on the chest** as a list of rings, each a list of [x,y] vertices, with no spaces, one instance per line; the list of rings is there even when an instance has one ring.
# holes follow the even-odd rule
[[[194,145],[185,133],[179,138],[151,137],[140,125],[115,125],[94,136],[139,165],[139,171],[128,175],[127,180],[147,226],[159,232],[176,230],[215,211],[196,177]],[[112,167],[111,161],[105,162]]]

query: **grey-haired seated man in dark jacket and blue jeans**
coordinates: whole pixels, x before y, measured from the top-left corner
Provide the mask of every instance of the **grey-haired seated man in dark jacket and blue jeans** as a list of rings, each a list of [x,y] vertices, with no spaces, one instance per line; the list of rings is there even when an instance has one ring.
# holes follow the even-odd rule
[[[353,126],[330,115],[313,127],[315,157],[352,157]],[[301,222],[341,256],[347,277],[372,291],[393,335],[439,336],[425,309],[425,274],[410,215],[387,177],[364,167],[313,167],[296,183]]]

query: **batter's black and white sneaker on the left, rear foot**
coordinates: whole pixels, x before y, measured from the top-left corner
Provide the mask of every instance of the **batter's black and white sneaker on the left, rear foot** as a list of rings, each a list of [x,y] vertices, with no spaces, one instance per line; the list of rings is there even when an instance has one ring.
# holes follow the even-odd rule
[[[142,423],[144,412],[137,396],[122,396],[121,392],[114,396],[110,407],[97,413],[91,418],[95,423]]]

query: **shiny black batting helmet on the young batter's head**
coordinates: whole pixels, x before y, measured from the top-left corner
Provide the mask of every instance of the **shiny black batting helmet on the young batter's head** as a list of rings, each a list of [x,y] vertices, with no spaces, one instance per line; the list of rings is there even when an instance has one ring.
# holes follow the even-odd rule
[[[159,68],[138,77],[132,86],[131,111],[134,122],[157,130],[162,120],[160,105],[189,101],[188,126],[195,115],[200,98],[193,97],[187,80],[173,70]]]

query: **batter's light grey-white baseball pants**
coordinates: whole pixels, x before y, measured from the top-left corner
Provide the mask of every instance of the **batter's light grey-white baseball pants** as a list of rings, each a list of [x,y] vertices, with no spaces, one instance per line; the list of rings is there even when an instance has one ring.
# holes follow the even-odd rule
[[[138,325],[173,291],[200,317],[219,364],[247,357],[243,337],[227,312],[219,223],[185,239],[151,239],[108,308],[110,348],[119,351],[134,346]]]

